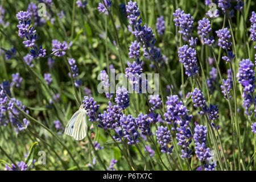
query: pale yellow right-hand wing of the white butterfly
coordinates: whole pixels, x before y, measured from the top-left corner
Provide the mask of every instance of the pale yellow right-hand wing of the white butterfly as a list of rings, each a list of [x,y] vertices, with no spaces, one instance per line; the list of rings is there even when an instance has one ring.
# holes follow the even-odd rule
[[[86,111],[82,110],[82,112],[76,118],[76,122],[73,129],[73,137],[75,140],[82,140],[86,137],[87,134],[87,121],[86,121]]]

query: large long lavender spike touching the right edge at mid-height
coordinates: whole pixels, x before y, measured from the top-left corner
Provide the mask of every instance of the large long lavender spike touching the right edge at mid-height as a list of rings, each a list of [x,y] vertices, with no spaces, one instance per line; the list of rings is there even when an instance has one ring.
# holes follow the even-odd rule
[[[251,115],[252,112],[249,111],[249,109],[250,106],[254,104],[255,100],[253,99],[253,92],[255,89],[255,72],[253,67],[254,64],[249,59],[242,59],[237,73],[238,82],[240,82],[243,87],[243,107],[245,107],[246,115]]]

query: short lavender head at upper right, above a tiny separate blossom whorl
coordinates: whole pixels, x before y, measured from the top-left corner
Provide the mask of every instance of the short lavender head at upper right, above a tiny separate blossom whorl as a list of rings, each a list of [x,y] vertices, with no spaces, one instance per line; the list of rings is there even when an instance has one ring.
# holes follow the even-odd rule
[[[218,36],[218,46],[223,49],[229,49],[232,46],[232,42],[229,43],[229,38],[231,37],[228,28],[223,28],[215,31]]]

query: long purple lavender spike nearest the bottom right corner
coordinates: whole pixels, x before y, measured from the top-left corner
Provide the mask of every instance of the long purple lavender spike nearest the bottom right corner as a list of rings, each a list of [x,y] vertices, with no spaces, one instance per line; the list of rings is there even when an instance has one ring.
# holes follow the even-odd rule
[[[195,123],[193,139],[196,144],[196,156],[201,161],[206,161],[212,158],[210,148],[207,148],[207,127]]]

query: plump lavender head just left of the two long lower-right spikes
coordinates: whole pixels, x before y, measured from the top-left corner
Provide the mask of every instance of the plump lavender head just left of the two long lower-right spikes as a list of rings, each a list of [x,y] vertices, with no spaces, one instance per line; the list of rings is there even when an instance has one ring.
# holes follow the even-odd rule
[[[155,135],[156,139],[158,139],[158,143],[161,145],[161,152],[171,154],[172,148],[174,148],[174,146],[170,147],[172,135],[170,131],[167,129],[167,127],[158,126],[158,130],[156,130]]]

